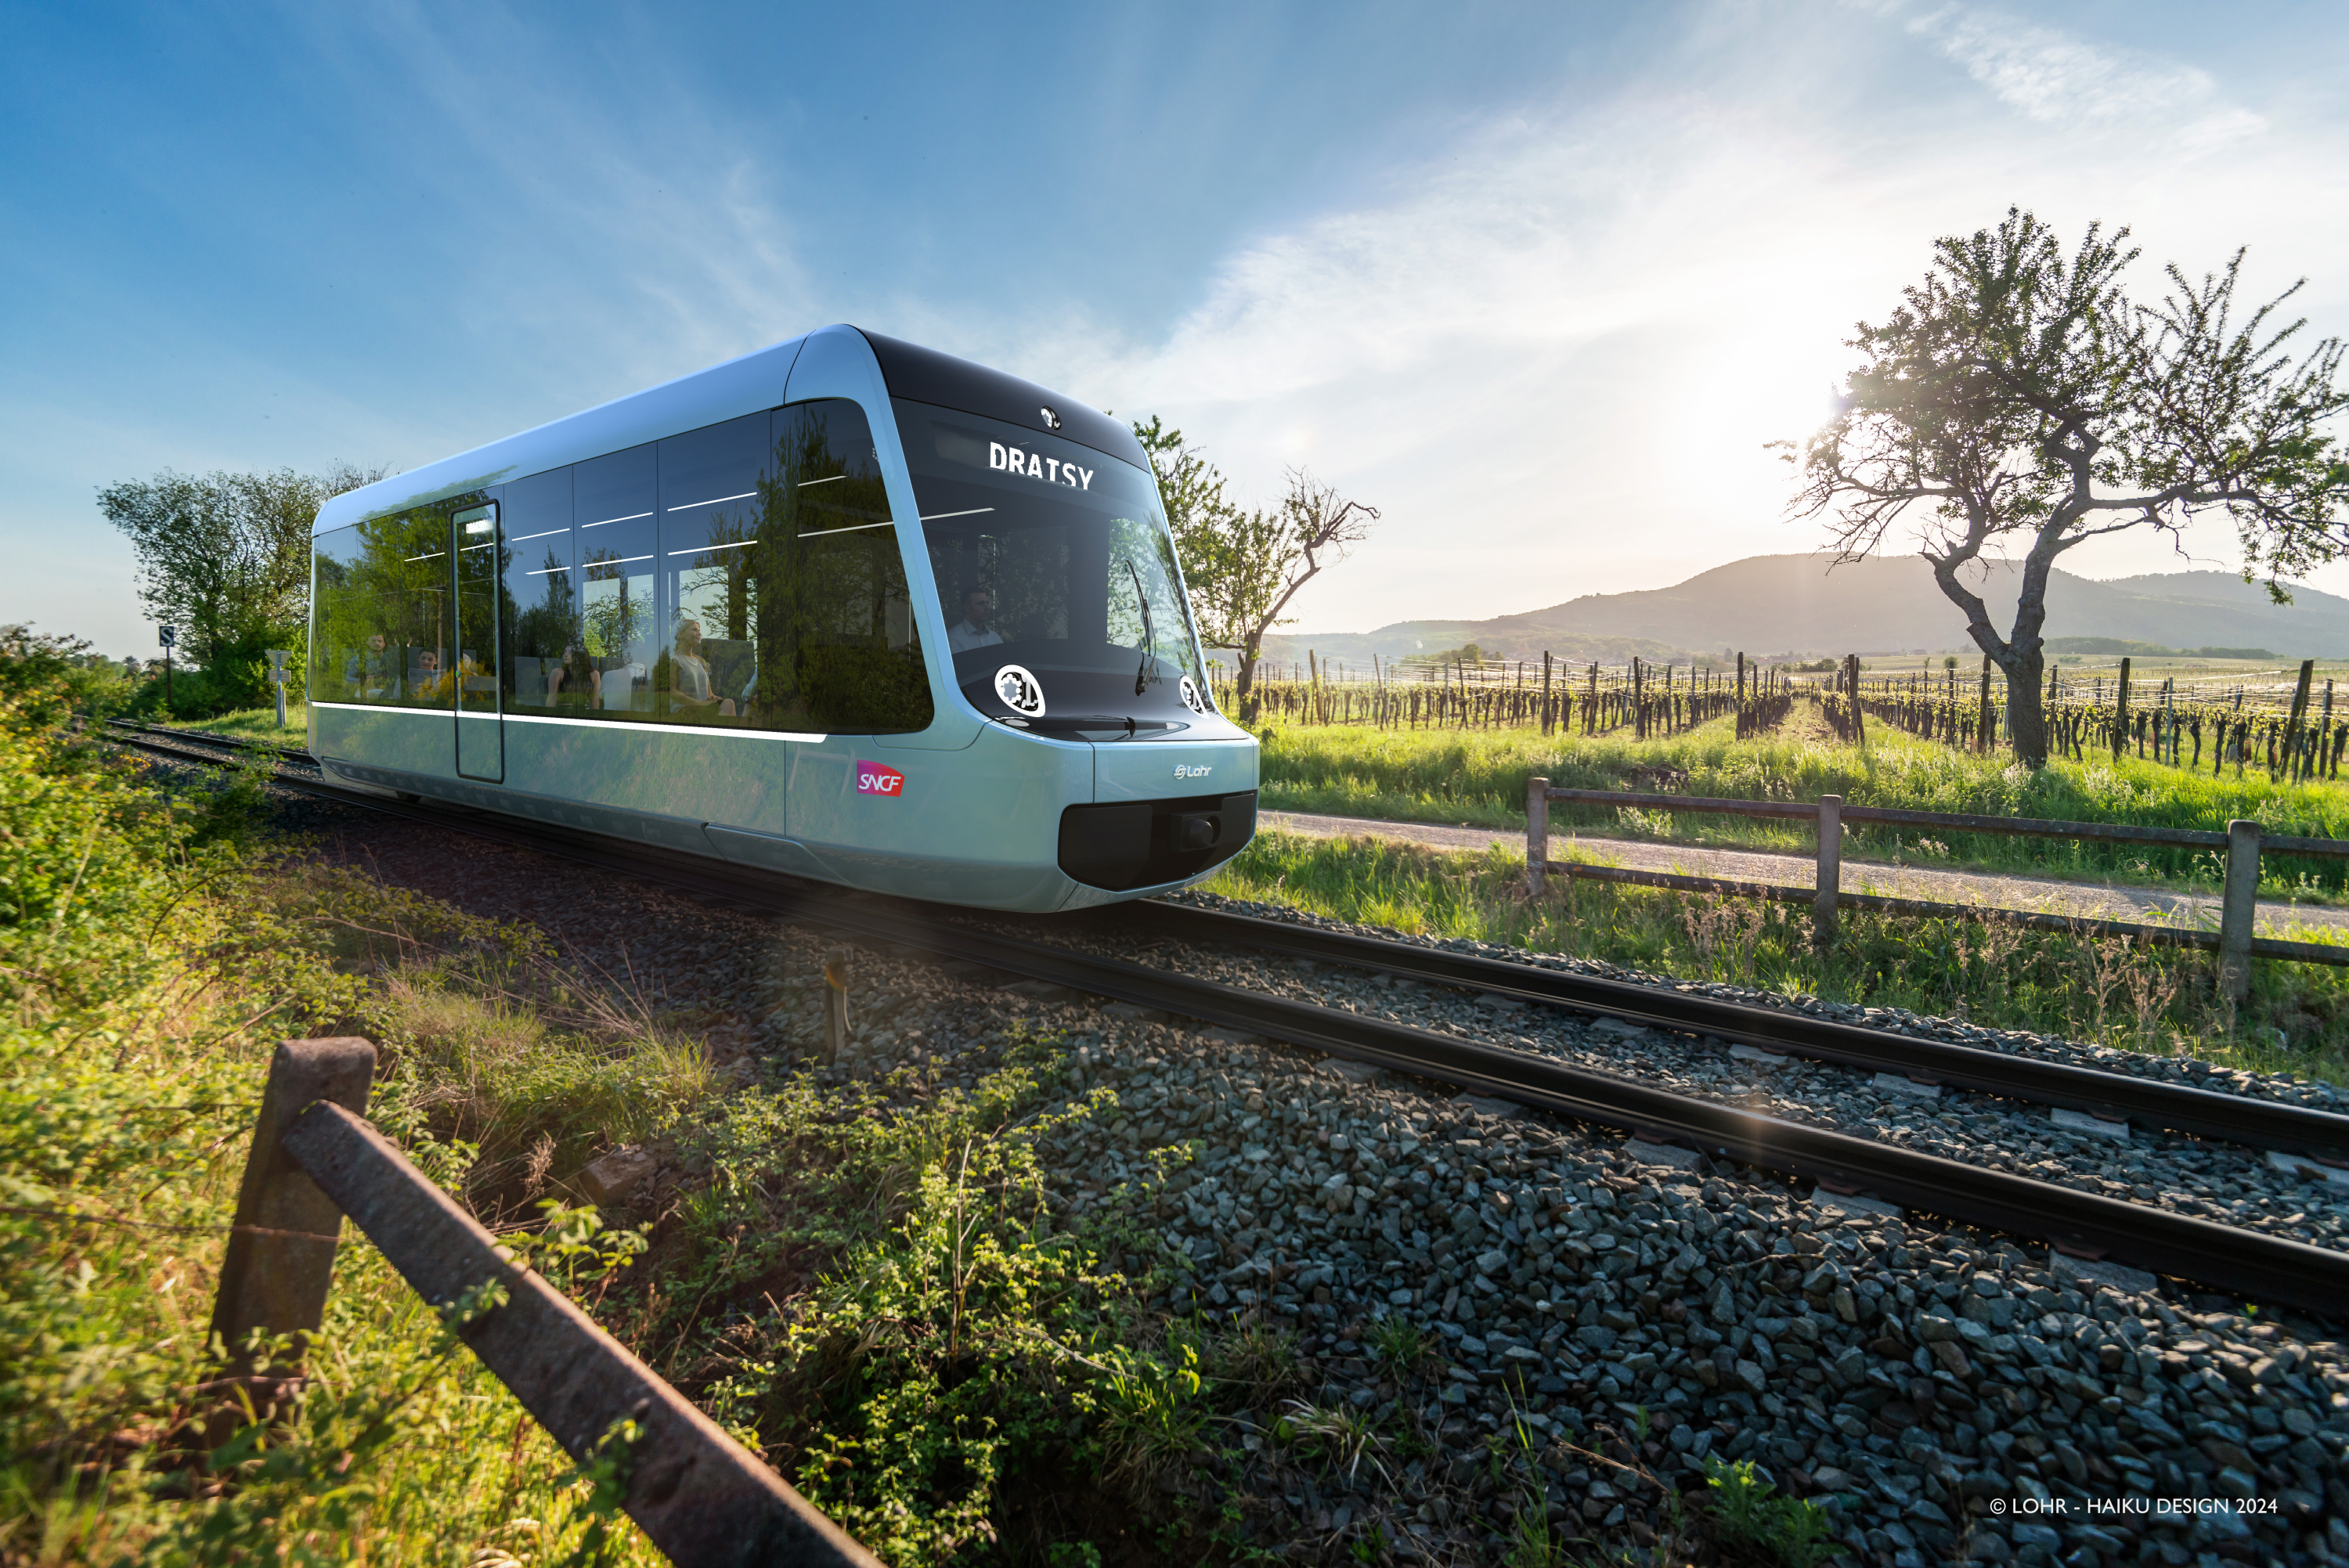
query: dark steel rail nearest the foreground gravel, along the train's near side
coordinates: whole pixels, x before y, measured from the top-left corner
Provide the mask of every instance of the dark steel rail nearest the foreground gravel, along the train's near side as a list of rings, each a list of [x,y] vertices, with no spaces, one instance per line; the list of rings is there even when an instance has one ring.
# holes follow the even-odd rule
[[[162,746],[153,746],[162,751]],[[2349,1300],[2349,1251],[2079,1192],[1893,1143],[1764,1117],[1736,1106],[1656,1089],[1548,1056],[1461,1040],[1318,1002],[1243,991],[1170,974],[1123,958],[1078,953],[968,925],[874,894],[815,890],[782,876],[726,864],[684,866],[677,857],[590,833],[557,833],[503,817],[392,803],[334,784],[287,779],[291,789],[388,815],[451,826],[510,845],[545,850],[601,869],[634,871],[705,897],[723,897],[794,920],[822,922],[874,941],[923,948],[1090,995],[1156,1007],[1369,1066],[1433,1077],[1658,1143],[1684,1143],[1719,1160],[1785,1171],[1830,1190],[1867,1190],[1889,1202],[1968,1225],[2044,1239],[2067,1253],[2114,1258],[2156,1275],[2239,1291],[2257,1300],[2337,1312]],[[1160,915],[1160,911],[1151,911]],[[1247,920],[1226,915],[1224,920]],[[1278,922],[1261,922],[1266,927]],[[1193,925],[1205,932],[1207,925]],[[1238,927],[1219,927],[1238,930]],[[1287,932],[1294,934],[1294,927]],[[1271,937],[1266,932],[1266,937]],[[1362,939],[1367,941],[1367,939]],[[1496,962],[1496,960],[1487,960]],[[1381,965],[1384,967],[1384,965]],[[1515,965],[1503,965],[1515,969]],[[1452,981],[1459,984],[1459,981]],[[1616,984],[1616,981],[1600,981]],[[1496,991],[1499,986],[1485,986]],[[1661,995],[1661,993],[1658,993]],[[1682,995],[1684,993],[1672,993]],[[1630,1000],[1630,998],[1626,998]],[[1766,1012],[1766,1009],[1755,1009]],[[1637,1016],[1618,1012],[1616,1016]],[[1684,1028],[1684,1026],[1682,1026]],[[1708,1030],[1717,1033],[1717,1030]],[[1999,1056],[2001,1063],[2011,1061]]]

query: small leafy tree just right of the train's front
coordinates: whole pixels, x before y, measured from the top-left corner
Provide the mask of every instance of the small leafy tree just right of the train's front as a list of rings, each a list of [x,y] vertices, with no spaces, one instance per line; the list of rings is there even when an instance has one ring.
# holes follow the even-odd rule
[[[1240,723],[1254,723],[1264,634],[1283,624],[1280,613],[1306,582],[1369,538],[1379,509],[1346,500],[1304,469],[1287,472],[1278,507],[1243,509],[1226,498],[1224,474],[1184,446],[1179,430],[1153,415],[1149,425],[1135,420],[1135,437],[1158,477],[1200,641],[1238,653],[1233,697]]]

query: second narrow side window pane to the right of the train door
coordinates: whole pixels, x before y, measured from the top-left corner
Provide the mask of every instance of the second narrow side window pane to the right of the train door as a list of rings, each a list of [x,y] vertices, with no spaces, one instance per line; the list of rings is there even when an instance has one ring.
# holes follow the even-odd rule
[[[587,707],[651,716],[660,648],[653,582],[660,559],[660,486],[653,444],[571,467],[578,519],[580,646],[594,676]]]

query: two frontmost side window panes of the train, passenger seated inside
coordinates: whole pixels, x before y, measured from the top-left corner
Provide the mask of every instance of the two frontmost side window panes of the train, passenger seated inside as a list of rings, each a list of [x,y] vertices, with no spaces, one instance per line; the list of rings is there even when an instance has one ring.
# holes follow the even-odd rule
[[[935,704],[864,411],[778,408],[660,444],[667,718],[909,732]],[[672,484],[674,477],[674,484]]]

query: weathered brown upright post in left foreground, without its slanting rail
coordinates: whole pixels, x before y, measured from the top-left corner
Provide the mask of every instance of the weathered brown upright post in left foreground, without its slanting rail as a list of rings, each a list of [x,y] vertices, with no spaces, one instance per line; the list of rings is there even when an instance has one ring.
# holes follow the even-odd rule
[[[376,1047],[357,1035],[284,1040],[270,1059],[261,1091],[254,1148],[244,1157],[237,1221],[221,1261],[221,1291],[211,1303],[211,1333],[228,1352],[233,1376],[249,1376],[244,1340],[261,1333],[317,1333],[334,1284],[334,1249],[343,1211],[287,1155],[280,1138],[294,1117],[327,1101],[366,1115],[376,1082]]]

